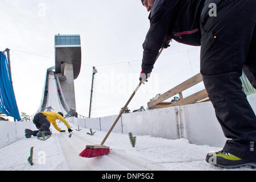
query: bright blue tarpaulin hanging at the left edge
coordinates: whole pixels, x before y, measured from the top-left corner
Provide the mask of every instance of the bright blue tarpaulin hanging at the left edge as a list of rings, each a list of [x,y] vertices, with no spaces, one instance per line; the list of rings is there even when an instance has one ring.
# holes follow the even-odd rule
[[[0,56],[0,111],[20,121],[9,63],[4,53],[0,52]]]

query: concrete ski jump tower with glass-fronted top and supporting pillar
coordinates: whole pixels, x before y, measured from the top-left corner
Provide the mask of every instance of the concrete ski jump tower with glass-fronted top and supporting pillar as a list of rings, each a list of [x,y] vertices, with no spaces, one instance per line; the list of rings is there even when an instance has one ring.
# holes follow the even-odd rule
[[[79,76],[80,68],[80,35],[55,35],[55,77],[65,102],[73,110],[76,110],[74,80]]]

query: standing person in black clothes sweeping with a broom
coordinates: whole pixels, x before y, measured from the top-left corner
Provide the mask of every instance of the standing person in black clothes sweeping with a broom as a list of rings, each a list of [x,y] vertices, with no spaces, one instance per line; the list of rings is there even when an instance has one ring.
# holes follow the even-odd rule
[[[245,73],[256,88],[255,0],[141,0],[150,11],[143,43],[143,82],[169,39],[201,46],[200,73],[224,135],[229,140],[206,161],[221,167],[256,167],[256,117],[242,91]],[[212,13],[214,11],[214,13]]]

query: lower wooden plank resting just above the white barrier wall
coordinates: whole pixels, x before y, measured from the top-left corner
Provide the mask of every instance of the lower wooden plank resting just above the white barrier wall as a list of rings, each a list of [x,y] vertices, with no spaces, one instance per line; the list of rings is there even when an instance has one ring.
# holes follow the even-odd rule
[[[207,90],[201,90],[200,92],[197,92],[195,94],[192,94],[191,96],[188,96],[186,98],[183,98],[183,100],[179,100],[177,102],[173,102],[170,105],[167,105],[165,107],[171,107],[171,106],[181,106],[181,105],[187,105],[187,104],[194,104],[197,101],[201,101],[204,98],[208,97]]]

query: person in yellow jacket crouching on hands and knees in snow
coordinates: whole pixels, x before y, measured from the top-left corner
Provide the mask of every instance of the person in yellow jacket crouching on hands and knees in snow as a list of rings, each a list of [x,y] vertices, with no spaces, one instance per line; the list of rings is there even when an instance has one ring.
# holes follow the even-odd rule
[[[69,126],[66,119],[63,118],[63,113],[54,113],[54,112],[40,112],[37,113],[33,119],[33,123],[37,127],[36,131],[32,131],[30,129],[25,129],[25,136],[26,138],[31,138],[33,135],[34,137],[37,136],[38,133],[44,132],[45,135],[51,135],[51,131],[49,130],[49,127],[52,125],[55,127],[55,129],[59,132],[64,133],[65,130],[61,130],[56,123],[56,120],[60,119],[68,128],[68,132],[71,133],[73,130],[71,130],[71,127]]]

